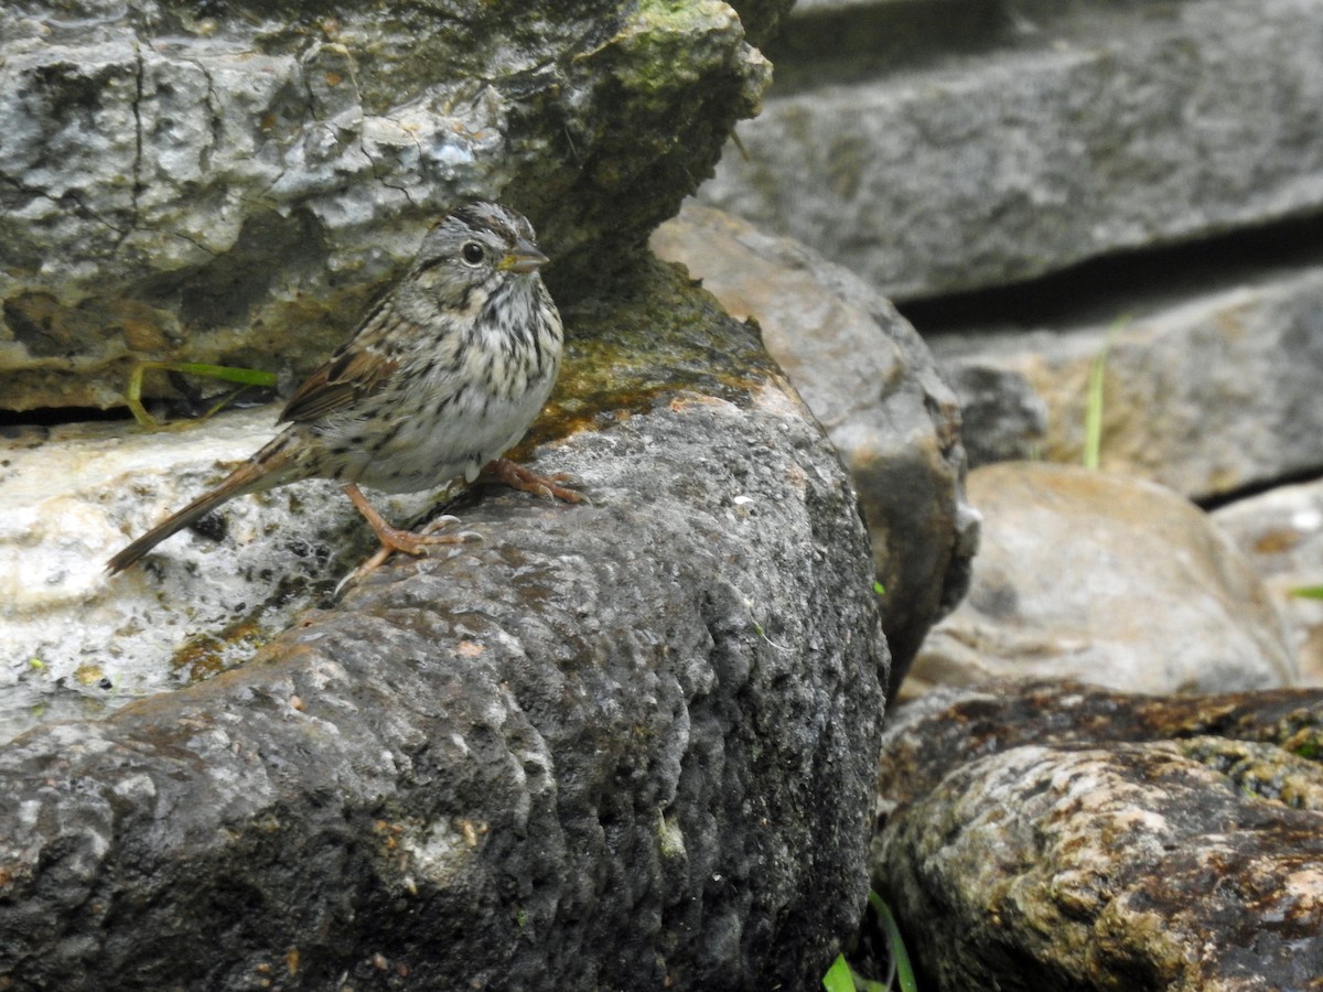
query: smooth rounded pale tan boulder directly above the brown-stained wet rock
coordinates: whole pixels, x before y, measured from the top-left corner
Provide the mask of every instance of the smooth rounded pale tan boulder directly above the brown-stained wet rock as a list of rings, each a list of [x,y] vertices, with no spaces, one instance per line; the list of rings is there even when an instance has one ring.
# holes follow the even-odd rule
[[[968,488],[984,515],[974,581],[929,634],[909,692],[1031,676],[1138,692],[1294,684],[1267,590],[1176,493],[1027,462],[978,468]]]

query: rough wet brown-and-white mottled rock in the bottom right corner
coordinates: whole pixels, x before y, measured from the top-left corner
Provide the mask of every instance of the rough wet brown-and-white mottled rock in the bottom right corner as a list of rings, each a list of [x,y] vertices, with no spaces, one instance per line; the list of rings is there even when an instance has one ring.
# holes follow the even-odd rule
[[[875,884],[934,992],[1311,988],[1320,755],[1318,690],[934,693],[884,735]]]

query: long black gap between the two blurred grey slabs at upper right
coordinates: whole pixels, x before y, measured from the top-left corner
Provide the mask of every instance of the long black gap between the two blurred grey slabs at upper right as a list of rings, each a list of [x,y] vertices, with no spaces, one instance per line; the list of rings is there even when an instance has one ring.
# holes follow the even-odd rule
[[[1323,214],[1110,255],[1039,279],[916,299],[897,308],[925,337],[1099,325],[1174,302],[1323,265]]]

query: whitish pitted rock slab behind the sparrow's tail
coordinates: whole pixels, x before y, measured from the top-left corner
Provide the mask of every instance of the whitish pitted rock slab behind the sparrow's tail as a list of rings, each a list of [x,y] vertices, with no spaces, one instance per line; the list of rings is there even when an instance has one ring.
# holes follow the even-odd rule
[[[0,444],[0,738],[91,716],[249,657],[374,545],[328,481],[226,504],[114,578],[106,558],[275,434],[278,407],[185,430],[53,429]],[[380,497],[407,522],[425,499]]]

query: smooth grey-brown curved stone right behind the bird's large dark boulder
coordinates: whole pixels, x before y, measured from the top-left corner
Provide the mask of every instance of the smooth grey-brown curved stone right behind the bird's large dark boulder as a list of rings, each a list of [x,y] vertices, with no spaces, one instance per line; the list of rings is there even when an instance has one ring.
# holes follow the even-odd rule
[[[803,245],[689,204],[652,246],[684,262],[726,312],[758,320],[853,476],[886,590],[894,690],[929,627],[968,589],[978,548],[950,386],[889,302]]]

